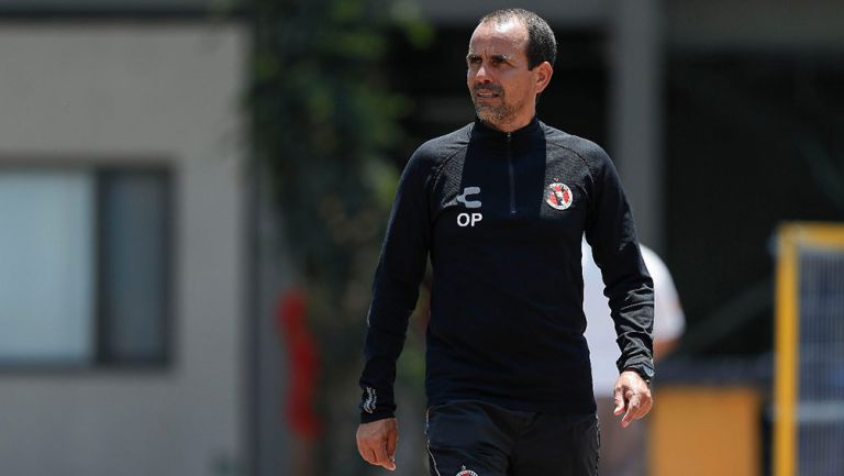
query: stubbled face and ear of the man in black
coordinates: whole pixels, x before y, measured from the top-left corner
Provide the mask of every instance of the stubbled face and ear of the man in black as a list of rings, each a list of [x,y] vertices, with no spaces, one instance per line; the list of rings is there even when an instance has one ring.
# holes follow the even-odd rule
[[[482,23],[469,41],[466,84],[475,111],[484,122],[501,131],[514,131],[533,119],[536,95],[551,76],[538,80],[544,67],[528,69],[526,46],[528,29],[515,19],[502,24]]]

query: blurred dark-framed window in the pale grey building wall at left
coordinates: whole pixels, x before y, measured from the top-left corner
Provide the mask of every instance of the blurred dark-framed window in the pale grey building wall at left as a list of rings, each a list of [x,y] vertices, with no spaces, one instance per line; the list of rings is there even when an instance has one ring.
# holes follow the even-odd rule
[[[0,366],[168,361],[160,168],[0,168]]]

